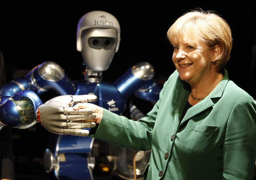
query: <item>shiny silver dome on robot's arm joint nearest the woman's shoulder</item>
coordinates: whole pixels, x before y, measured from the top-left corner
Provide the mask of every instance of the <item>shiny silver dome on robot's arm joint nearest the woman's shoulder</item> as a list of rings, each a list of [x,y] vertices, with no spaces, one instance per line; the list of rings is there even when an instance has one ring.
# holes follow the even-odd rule
[[[137,63],[132,67],[131,71],[135,77],[142,80],[150,80],[154,77],[154,68],[147,62]]]

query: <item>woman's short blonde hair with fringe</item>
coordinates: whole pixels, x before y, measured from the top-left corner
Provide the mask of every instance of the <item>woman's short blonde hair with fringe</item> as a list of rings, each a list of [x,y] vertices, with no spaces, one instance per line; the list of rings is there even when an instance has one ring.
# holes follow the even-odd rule
[[[167,31],[169,41],[188,36],[213,48],[220,46],[220,54],[215,61],[216,71],[223,72],[230,58],[232,34],[227,22],[212,11],[191,11],[179,17]]]

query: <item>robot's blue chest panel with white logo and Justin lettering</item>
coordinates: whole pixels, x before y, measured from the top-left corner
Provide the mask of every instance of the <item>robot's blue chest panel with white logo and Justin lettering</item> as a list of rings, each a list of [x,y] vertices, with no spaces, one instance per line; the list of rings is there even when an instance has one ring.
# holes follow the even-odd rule
[[[80,88],[79,93],[76,95],[81,94],[96,95],[98,98],[95,104],[108,109],[113,113],[122,114],[122,112],[126,109],[126,100],[112,83],[87,84],[83,90]]]

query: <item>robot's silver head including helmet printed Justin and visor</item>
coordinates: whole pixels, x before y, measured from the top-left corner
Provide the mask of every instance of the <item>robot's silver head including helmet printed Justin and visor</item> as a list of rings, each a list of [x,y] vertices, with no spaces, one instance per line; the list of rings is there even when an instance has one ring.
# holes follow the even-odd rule
[[[120,43],[120,26],[112,14],[91,11],[81,17],[77,26],[76,48],[84,63],[93,71],[105,71]]]

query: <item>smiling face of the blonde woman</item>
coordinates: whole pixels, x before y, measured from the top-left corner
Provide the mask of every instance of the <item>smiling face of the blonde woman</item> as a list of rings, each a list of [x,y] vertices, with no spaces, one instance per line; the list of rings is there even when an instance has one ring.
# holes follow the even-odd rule
[[[198,43],[186,37],[175,40],[172,61],[181,80],[191,86],[203,83],[215,73],[212,64],[213,50],[204,43]]]

